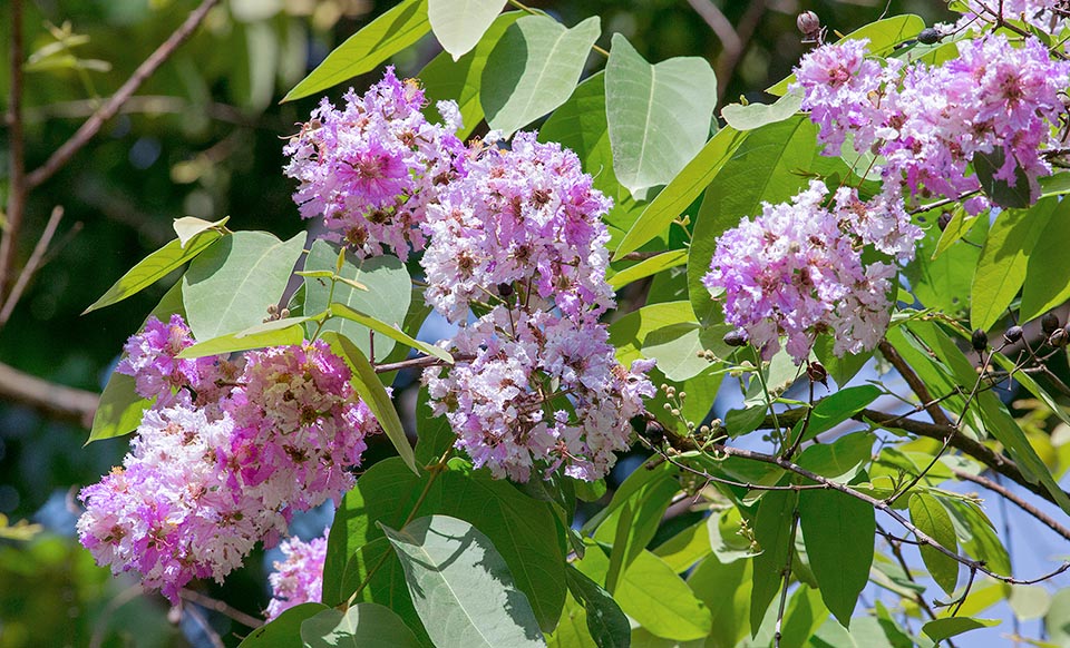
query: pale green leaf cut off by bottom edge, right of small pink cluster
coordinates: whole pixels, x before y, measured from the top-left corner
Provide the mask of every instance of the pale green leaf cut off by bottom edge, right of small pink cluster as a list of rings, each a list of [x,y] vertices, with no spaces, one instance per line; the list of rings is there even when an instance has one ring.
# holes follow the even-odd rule
[[[401,617],[378,603],[325,609],[301,624],[301,639],[308,648],[420,648]]]

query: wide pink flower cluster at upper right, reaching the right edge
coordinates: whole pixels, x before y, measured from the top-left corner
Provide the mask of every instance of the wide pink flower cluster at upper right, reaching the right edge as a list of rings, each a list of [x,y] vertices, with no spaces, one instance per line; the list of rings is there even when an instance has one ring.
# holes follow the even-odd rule
[[[1002,35],[964,40],[959,58],[937,67],[895,59],[881,66],[865,58],[866,45],[824,46],[796,71],[826,154],[839,155],[849,135],[855,151],[883,157],[888,202],[976,192],[969,165],[979,155],[1002,156],[995,178],[1013,187],[1023,175],[1035,199],[1037,178],[1051,173],[1042,147],[1064,110],[1059,92],[1070,62],[1052,60],[1032,37],[1021,47]],[[976,214],[989,204],[976,197],[965,206]]]

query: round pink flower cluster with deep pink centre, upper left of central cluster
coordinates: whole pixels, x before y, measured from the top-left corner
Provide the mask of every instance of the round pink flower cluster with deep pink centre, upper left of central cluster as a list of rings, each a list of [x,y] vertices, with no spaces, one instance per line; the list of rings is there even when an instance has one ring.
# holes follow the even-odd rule
[[[393,68],[344,100],[337,109],[324,98],[286,145],[284,170],[300,181],[294,200],[302,217],[322,215],[330,237],[359,256],[388,245],[403,261],[409,245],[424,247],[425,207],[458,173],[460,111],[440,101],[445,126],[427,121],[422,90],[399,81]]]

